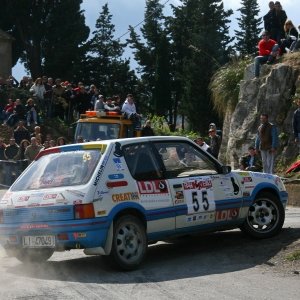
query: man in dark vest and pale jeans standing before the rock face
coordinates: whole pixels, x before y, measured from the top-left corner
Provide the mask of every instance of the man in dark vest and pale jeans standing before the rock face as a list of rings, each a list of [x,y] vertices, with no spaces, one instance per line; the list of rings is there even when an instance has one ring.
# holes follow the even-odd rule
[[[267,114],[260,115],[260,126],[257,130],[255,148],[261,153],[263,172],[273,174],[275,152],[278,148],[278,132],[274,124],[269,122]]]

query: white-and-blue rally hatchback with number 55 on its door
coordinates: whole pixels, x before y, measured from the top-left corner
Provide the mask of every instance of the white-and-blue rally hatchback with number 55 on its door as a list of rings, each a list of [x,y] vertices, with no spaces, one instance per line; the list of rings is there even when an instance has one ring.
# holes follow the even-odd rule
[[[181,235],[272,237],[287,200],[278,176],[231,171],[183,137],[64,145],[41,151],[1,199],[0,243],[22,262],[84,249],[130,270],[148,244]]]

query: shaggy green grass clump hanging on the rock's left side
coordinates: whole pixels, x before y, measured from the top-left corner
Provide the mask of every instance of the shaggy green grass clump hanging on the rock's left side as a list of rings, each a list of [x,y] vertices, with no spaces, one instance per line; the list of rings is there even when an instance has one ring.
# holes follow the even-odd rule
[[[243,79],[245,68],[250,63],[250,57],[233,59],[212,77],[209,88],[214,109],[220,117],[224,116],[227,108],[234,110],[238,102],[240,81]]]

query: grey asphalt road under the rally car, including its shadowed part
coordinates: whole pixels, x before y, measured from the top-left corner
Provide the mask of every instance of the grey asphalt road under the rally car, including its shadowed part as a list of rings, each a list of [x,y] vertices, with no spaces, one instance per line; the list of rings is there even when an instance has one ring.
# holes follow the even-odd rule
[[[257,241],[233,230],[160,243],[149,247],[145,263],[132,272],[114,271],[105,257],[81,250],[23,265],[0,247],[0,299],[298,300],[300,275],[270,263],[297,241],[300,208],[288,207],[275,238]]]

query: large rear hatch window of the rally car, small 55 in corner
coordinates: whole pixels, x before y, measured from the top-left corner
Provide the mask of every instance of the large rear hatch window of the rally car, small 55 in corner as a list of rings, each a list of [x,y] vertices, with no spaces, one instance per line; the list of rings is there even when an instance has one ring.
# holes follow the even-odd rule
[[[34,161],[12,185],[12,191],[85,184],[101,157],[99,150],[53,153]]]

